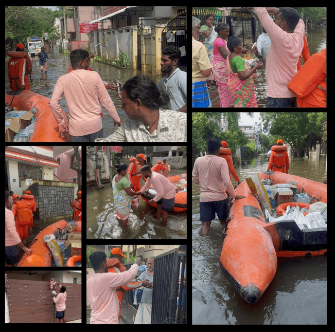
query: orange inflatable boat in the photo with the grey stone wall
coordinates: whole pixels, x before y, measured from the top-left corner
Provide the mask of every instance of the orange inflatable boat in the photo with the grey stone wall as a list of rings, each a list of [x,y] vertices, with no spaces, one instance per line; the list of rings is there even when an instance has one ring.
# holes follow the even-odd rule
[[[47,244],[44,242],[44,236],[49,234],[58,234],[58,228],[66,228],[67,222],[59,220],[59,222],[51,224],[44,228],[31,242],[29,249],[32,254],[24,255],[17,266],[50,266],[51,265],[51,252]],[[81,233],[81,222],[76,222],[75,233]]]

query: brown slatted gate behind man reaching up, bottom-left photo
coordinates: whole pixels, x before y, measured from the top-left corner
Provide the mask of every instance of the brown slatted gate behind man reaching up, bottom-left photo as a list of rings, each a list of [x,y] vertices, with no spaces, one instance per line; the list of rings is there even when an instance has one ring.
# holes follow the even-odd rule
[[[81,319],[81,284],[66,287],[65,320]],[[57,288],[57,287],[56,287]],[[7,279],[10,323],[58,323],[49,281]]]

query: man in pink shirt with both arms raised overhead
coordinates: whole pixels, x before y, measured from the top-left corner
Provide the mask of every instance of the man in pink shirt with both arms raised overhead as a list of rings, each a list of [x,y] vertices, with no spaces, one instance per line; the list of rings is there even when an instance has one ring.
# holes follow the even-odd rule
[[[265,77],[268,82],[266,107],[296,107],[296,95],[287,87],[297,72],[304,47],[305,24],[294,8],[254,7],[271,45]],[[275,22],[270,15],[277,15]]]

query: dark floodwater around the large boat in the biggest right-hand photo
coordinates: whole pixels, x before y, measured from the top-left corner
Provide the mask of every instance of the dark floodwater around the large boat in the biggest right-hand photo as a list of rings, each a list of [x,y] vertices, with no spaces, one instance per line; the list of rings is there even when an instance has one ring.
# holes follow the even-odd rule
[[[265,171],[266,155],[235,167],[241,181]],[[290,159],[290,174],[322,182],[326,161]],[[233,186],[237,182],[232,178]],[[220,268],[223,227],[218,219],[199,235],[199,186],[192,183],[192,324],[326,324],[327,258],[278,259],[275,277],[254,304],[245,302]]]

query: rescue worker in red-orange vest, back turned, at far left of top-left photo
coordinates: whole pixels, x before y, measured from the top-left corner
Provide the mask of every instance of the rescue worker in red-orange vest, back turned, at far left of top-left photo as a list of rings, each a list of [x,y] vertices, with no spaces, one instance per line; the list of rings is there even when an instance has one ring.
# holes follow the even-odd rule
[[[30,90],[28,75],[32,74],[31,60],[24,51],[24,45],[16,45],[16,51],[7,52],[8,57],[8,78],[12,91]]]

